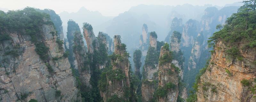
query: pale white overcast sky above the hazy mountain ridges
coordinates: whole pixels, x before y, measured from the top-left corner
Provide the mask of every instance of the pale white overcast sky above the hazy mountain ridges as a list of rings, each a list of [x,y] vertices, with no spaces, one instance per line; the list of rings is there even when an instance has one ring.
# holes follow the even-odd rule
[[[84,6],[90,11],[99,11],[104,16],[117,16],[139,4],[224,6],[241,1],[243,0],[0,0],[0,8],[17,10],[29,6],[40,9],[49,8],[60,13],[62,11],[76,12]]]

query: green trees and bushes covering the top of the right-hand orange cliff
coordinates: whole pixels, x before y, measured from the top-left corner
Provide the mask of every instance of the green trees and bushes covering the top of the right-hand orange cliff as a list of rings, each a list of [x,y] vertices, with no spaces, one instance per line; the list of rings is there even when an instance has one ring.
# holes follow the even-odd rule
[[[229,45],[246,39],[249,47],[255,47],[256,42],[256,11],[255,0],[244,1],[244,5],[226,20],[223,28],[213,33],[208,44],[213,46],[218,40],[224,40]],[[221,28],[220,25],[217,28]]]

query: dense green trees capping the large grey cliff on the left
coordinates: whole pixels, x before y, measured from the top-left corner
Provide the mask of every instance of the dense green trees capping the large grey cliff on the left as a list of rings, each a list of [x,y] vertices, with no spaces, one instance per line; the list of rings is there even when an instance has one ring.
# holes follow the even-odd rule
[[[34,8],[27,7],[23,10],[8,11],[0,13],[0,32],[8,30],[28,34],[32,42],[36,42],[43,24],[53,25],[50,16],[46,13],[36,11]],[[8,37],[7,37],[8,38]]]

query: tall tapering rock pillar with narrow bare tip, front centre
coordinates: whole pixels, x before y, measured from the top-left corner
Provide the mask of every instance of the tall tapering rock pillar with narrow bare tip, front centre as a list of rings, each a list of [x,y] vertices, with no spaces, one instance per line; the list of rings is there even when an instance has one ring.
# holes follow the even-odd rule
[[[116,57],[116,59],[111,59],[111,65],[113,68],[111,73],[106,74],[108,84],[106,91],[100,91],[100,95],[103,97],[104,102],[106,102],[108,98],[111,98],[114,95],[120,99],[129,101],[129,97],[125,96],[125,94],[127,94],[125,92],[130,90],[130,64],[128,57],[126,56],[127,53],[125,45],[121,43],[120,38],[120,35],[114,36],[114,55],[119,57]],[[123,77],[119,79],[114,78],[114,76]]]

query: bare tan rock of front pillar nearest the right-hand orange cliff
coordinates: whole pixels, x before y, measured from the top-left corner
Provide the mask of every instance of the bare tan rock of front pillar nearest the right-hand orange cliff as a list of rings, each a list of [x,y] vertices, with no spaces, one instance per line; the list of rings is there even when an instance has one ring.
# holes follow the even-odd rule
[[[160,58],[164,55],[168,55],[169,50],[166,50],[163,46],[160,51]],[[159,60],[160,63],[161,60]],[[173,67],[171,62],[166,62],[159,65],[158,79],[159,88],[167,87],[166,85],[172,84],[174,87],[167,89],[166,97],[158,97],[158,102],[176,102],[179,95],[179,74],[175,72],[175,67]]]

